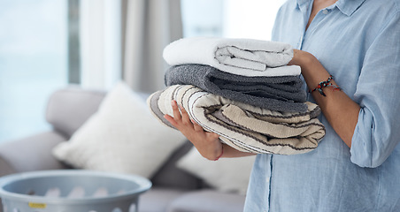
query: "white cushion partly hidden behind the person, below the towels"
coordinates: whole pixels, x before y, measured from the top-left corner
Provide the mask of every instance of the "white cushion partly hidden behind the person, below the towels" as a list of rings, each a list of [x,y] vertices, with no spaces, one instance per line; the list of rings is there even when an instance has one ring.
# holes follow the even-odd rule
[[[255,158],[254,155],[210,161],[200,155],[196,148],[192,148],[177,162],[177,166],[221,192],[244,194]]]

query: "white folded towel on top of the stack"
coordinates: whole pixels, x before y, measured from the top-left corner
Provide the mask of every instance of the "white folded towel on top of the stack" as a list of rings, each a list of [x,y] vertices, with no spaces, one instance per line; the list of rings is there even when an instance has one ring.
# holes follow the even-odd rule
[[[167,45],[167,64],[208,64],[242,76],[298,76],[300,67],[287,65],[293,57],[288,43],[217,37],[182,38]]]

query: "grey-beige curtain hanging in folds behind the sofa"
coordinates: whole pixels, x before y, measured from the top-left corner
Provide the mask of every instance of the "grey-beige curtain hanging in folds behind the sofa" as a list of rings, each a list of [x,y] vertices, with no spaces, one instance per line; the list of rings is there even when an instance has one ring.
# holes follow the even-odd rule
[[[182,37],[181,0],[123,0],[122,7],[122,78],[135,91],[164,88],[162,52]]]

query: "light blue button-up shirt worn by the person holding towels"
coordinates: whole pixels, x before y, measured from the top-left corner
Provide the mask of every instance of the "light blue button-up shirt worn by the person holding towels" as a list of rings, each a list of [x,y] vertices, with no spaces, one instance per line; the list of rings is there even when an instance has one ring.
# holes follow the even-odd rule
[[[305,31],[311,6],[283,4],[273,40],[312,53],[360,105],[352,145],[321,115],[312,152],[257,156],[244,210],[400,211],[400,1],[338,0]]]

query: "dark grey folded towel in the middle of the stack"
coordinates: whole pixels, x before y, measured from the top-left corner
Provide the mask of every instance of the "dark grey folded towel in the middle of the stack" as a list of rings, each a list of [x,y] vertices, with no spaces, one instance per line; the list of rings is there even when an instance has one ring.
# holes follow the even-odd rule
[[[165,85],[194,85],[214,95],[267,110],[304,112],[306,94],[297,76],[246,77],[204,64],[181,64],[165,72]]]

